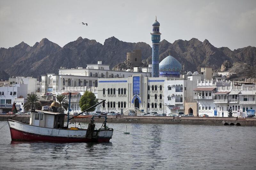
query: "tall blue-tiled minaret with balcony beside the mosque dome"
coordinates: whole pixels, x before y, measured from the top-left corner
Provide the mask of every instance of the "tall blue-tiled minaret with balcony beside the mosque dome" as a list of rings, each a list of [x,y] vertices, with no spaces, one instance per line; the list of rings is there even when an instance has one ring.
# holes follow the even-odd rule
[[[152,76],[159,77],[159,42],[160,35],[159,26],[160,23],[156,20],[153,24],[153,33],[151,34],[152,41]]]

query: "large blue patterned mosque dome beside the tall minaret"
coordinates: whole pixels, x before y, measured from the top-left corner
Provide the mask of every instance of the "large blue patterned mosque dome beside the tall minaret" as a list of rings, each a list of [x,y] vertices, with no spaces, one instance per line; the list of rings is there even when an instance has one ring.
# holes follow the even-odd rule
[[[159,75],[162,77],[180,77],[181,70],[180,62],[171,55],[159,63]]]

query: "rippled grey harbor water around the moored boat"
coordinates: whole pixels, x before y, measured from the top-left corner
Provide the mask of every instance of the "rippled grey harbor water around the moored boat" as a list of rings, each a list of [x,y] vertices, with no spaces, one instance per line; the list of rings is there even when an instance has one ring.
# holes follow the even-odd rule
[[[126,125],[130,135],[122,134]],[[0,130],[0,169],[256,169],[256,127],[108,127],[115,129],[110,143],[45,143],[12,142],[6,125]]]

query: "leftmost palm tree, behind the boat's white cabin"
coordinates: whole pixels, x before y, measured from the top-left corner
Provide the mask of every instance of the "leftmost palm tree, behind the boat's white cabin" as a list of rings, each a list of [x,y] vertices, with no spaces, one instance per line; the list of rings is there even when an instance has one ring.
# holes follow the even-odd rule
[[[27,99],[25,99],[25,103],[23,105],[24,110],[36,109],[39,110],[41,107],[41,103],[39,102],[39,97],[36,96],[36,93],[28,94]]]

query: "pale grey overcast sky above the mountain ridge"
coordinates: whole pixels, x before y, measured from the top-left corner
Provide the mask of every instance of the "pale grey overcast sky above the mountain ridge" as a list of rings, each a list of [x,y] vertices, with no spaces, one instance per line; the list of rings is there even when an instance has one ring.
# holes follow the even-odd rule
[[[151,46],[155,16],[161,40],[256,47],[255,0],[0,0],[0,47],[22,41],[33,46],[43,38],[63,47],[80,36],[101,44],[114,36]]]

